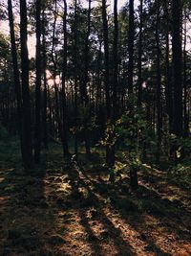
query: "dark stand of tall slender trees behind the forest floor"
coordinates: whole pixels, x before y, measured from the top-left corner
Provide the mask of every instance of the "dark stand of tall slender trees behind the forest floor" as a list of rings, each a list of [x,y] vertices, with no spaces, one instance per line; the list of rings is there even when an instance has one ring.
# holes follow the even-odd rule
[[[189,137],[189,1],[140,0],[137,7],[129,0],[117,10],[115,0],[111,13],[105,0],[85,2],[17,1],[19,38],[19,12],[5,3],[13,76],[1,72],[1,83],[11,84],[1,86],[1,123],[10,127],[11,109],[25,167],[33,166],[32,149],[40,163],[51,140],[61,141],[67,157],[74,143],[75,160],[81,145],[91,159],[91,148],[102,144],[110,167],[121,149],[133,163],[153,155],[158,163],[178,162],[185,153],[179,139]],[[29,27],[36,41],[31,59]],[[130,177],[137,187],[135,164]]]

